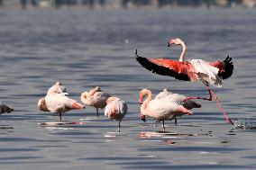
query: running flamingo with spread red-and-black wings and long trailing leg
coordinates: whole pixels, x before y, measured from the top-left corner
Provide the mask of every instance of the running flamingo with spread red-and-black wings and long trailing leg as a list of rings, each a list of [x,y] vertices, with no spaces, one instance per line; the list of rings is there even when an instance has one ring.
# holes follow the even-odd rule
[[[191,59],[190,61],[184,61],[186,54],[186,45],[180,39],[169,40],[169,47],[172,44],[181,45],[182,53],[179,57],[179,61],[166,59],[166,58],[142,58],[138,55],[137,49],[135,52],[136,60],[153,73],[161,76],[173,76],[178,80],[192,81],[201,80],[210,94],[209,98],[203,97],[187,97],[189,99],[203,99],[212,101],[214,96],[215,102],[224,114],[224,118],[229,123],[233,124],[231,118],[228,117],[226,112],[219,103],[215,93],[211,90],[210,85],[217,87],[222,86],[222,80],[229,78],[233,74],[233,62],[232,58],[227,56],[223,61],[216,60],[215,62],[206,62],[203,59]]]

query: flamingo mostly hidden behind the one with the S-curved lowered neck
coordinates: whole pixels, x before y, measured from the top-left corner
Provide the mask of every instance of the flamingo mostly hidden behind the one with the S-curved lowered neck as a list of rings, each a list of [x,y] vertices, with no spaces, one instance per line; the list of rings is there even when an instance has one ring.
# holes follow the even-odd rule
[[[161,99],[161,98],[166,98],[166,99],[169,99],[170,101],[173,101],[175,103],[181,104],[187,110],[191,110],[193,108],[201,108],[202,107],[202,105],[200,103],[196,103],[193,100],[186,100],[185,101],[187,96],[181,95],[181,94],[173,94],[172,92],[170,92],[166,88],[163,89],[163,91],[160,92],[160,94],[157,94],[155,96],[155,99]],[[176,116],[174,116],[174,121],[175,121],[175,125],[177,125],[177,118],[176,118]]]

